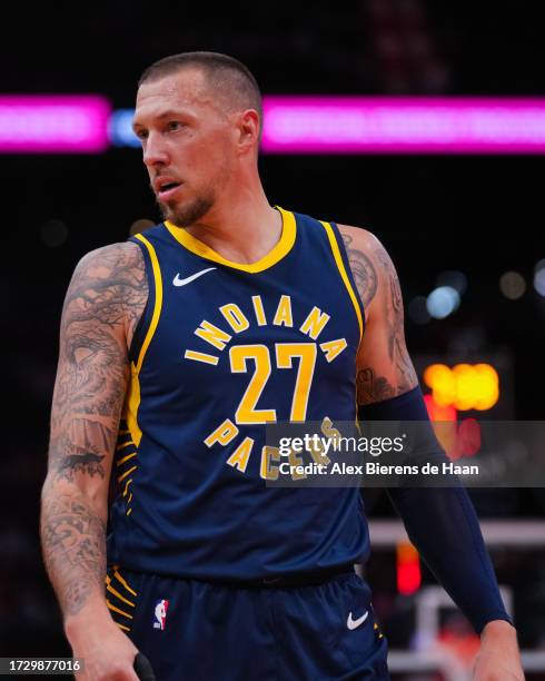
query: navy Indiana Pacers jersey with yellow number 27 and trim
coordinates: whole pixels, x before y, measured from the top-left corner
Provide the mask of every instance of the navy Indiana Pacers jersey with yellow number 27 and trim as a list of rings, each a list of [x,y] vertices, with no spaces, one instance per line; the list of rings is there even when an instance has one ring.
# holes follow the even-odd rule
[[[359,488],[266,485],[280,462],[267,423],[355,421],[364,332],[337,227],[280,213],[280,240],[250,265],[168,221],[130,239],[149,299],[130,348],[110,563],[237,581],[367,556]]]

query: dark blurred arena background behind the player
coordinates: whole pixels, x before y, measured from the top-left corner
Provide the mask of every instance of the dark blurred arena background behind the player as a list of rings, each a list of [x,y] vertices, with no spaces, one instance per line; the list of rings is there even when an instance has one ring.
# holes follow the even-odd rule
[[[0,655],[69,654],[37,531],[58,326],[78,259],[158,219],[139,151],[123,137],[119,114],[133,106],[143,68],[169,53],[205,49],[247,63],[270,97],[538,103],[545,96],[539,4],[261,0],[216,7],[111,0],[11,7],[0,48],[0,276],[8,342]],[[21,114],[21,102],[7,97],[28,95],[106,98],[109,127],[101,150],[32,151],[32,139],[43,140],[53,124],[50,111],[43,109],[43,119]],[[536,139],[545,128],[544,101],[535,114],[542,116],[541,124],[535,119]],[[27,124],[18,118],[24,116]],[[517,126],[516,112],[509,121]],[[326,128],[338,131],[335,124]],[[24,152],[14,152],[21,140],[29,142]],[[545,145],[537,142],[516,154],[501,148],[460,154],[454,147],[345,154],[327,152],[326,140],[321,150],[284,149],[260,159],[271,203],[364,226],[383,240],[399,273],[407,344],[429,407],[443,408],[442,417],[456,427],[467,418],[543,418]],[[426,373],[437,364],[448,372]],[[492,384],[469,382],[476,393],[468,402],[454,389],[444,404],[432,403],[436,379],[462,385],[464,371],[470,374],[478,364],[492,367]],[[515,615],[527,679],[545,679],[544,488],[470,495]],[[369,491],[367,505],[374,553],[365,572],[389,640],[393,679],[468,679],[475,635],[406,543],[384,493]]]

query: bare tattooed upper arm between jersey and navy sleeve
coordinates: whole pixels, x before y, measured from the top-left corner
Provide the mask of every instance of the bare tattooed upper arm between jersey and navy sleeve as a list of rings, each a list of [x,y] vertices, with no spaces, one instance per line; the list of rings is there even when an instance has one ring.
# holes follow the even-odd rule
[[[357,359],[358,403],[365,405],[407,393],[418,379],[405,345],[402,292],[389,255],[369,231],[339,229],[365,308]]]

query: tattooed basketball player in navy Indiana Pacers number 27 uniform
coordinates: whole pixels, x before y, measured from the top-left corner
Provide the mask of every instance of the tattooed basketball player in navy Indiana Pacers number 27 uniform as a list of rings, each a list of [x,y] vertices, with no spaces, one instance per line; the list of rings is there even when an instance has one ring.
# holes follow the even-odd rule
[[[392,260],[269,206],[259,89],[230,57],[152,65],[133,126],[165,221],[76,268],[42,494],[79,678],[135,680],[141,651],[161,681],[388,679],[359,490],[267,486],[265,424],[354,421],[356,376],[359,417],[427,418]],[[523,679],[465,492],[389,494],[480,634],[475,678]]]

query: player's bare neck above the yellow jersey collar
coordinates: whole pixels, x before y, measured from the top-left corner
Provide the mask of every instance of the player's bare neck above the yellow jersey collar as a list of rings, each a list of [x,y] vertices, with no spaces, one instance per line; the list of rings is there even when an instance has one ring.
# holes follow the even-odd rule
[[[260,182],[238,189],[187,230],[228,260],[256,263],[279,241],[281,216],[270,207]]]

